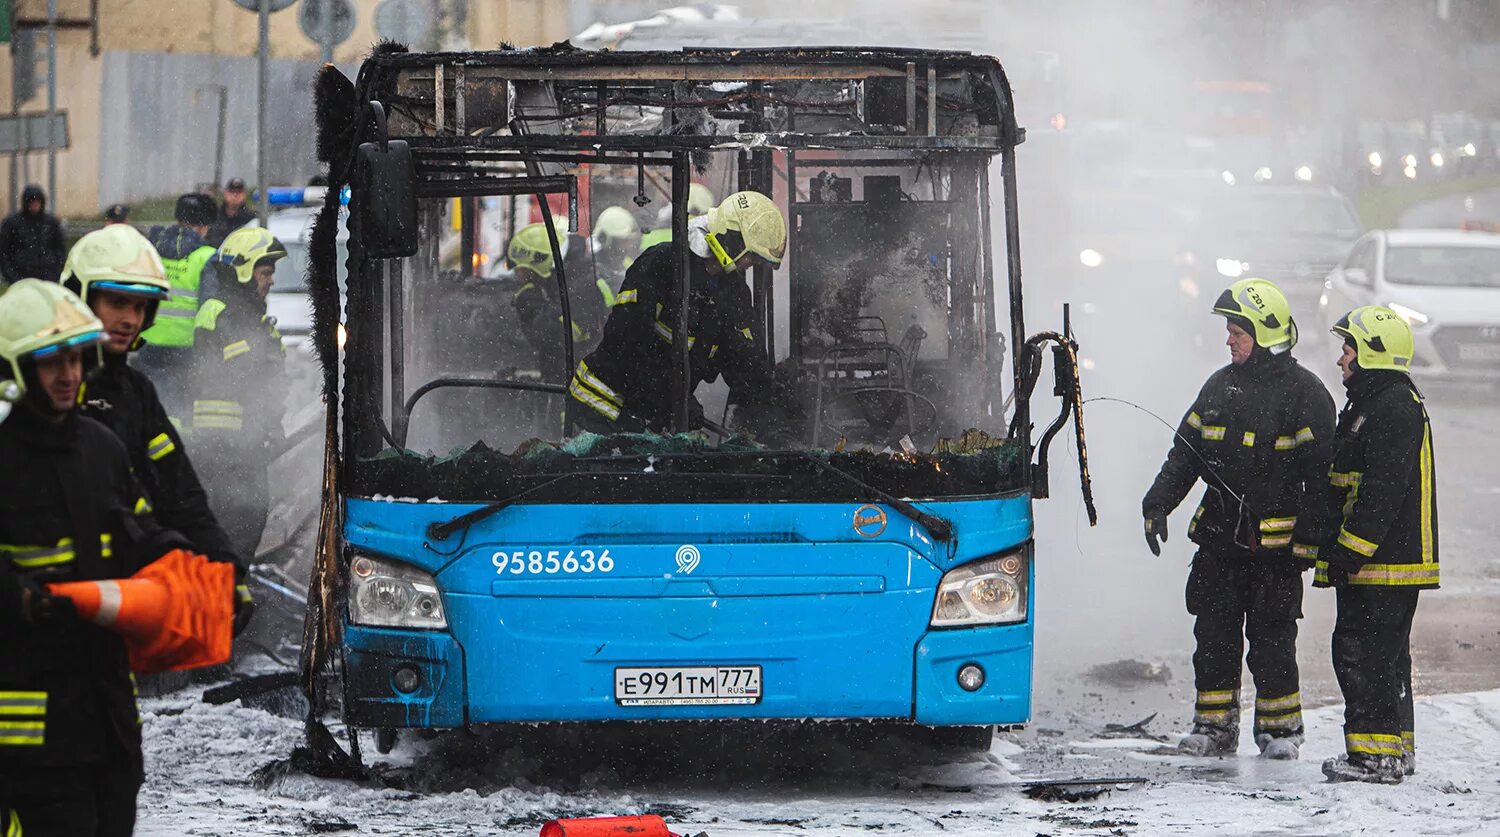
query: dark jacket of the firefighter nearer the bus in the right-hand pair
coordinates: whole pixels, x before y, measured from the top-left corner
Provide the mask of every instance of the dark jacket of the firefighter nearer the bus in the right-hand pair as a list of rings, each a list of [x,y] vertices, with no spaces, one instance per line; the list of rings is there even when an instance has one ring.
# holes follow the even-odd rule
[[[1172,512],[1203,480],[1188,525],[1194,543],[1292,560],[1293,540],[1314,525],[1299,510],[1326,480],[1334,424],[1334,398],[1317,375],[1290,352],[1257,348],[1203,384],[1142,508]]]

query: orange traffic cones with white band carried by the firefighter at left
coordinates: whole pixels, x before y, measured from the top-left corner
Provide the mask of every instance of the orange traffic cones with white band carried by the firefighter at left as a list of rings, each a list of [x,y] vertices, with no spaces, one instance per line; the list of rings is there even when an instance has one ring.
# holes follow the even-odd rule
[[[124,638],[130,670],[154,674],[230,658],[234,566],[174,549],[129,579],[46,585],[78,615]]]

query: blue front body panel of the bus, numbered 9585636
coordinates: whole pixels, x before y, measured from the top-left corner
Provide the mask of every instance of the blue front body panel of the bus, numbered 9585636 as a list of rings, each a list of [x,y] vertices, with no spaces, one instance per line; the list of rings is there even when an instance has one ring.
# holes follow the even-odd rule
[[[434,574],[447,630],[345,624],[351,723],[446,728],[504,722],[897,718],[1022,724],[1030,717],[1030,496],[924,504],[957,548],[882,507],[874,537],[860,504],[514,506],[435,550],[428,525],[472,506],[346,501],[351,554]],[[696,566],[678,550],[696,548]],[[932,628],[944,572],[998,552],[1028,555],[1026,621]],[[567,573],[594,552],[594,572]],[[598,572],[608,550],[609,572]],[[522,556],[522,564],[513,560]],[[537,556],[532,560],[532,556]],[[542,572],[530,572],[538,568]],[[567,566],[572,566],[568,562]],[[552,567],[555,572],[548,572]],[[614,672],[632,666],[764,670],[744,705],[624,706]],[[957,682],[978,664],[986,682]],[[398,687],[398,669],[418,686]],[[410,676],[410,675],[408,675]]]

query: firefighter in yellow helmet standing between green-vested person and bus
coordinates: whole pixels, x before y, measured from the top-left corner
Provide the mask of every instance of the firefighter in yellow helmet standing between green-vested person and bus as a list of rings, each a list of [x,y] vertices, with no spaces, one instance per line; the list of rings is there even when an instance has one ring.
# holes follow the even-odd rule
[[[208,506],[236,554],[254,561],[270,512],[267,468],[285,441],[286,350],[266,314],[286,248],[258,226],[224,240],[208,266],[219,294],[194,321],[192,442]]]

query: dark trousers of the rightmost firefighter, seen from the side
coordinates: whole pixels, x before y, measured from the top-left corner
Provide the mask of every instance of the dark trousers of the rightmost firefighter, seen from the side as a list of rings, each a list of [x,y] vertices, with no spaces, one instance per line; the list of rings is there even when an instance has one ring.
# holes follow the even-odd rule
[[[1344,692],[1344,748],[1414,756],[1412,618],[1418,591],[1340,586],[1334,674]]]

